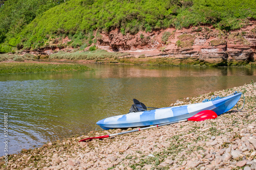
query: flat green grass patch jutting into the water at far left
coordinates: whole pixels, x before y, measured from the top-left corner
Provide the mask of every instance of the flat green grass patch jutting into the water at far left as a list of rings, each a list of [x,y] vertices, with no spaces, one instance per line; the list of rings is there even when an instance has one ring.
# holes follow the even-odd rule
[[[60,72],[60,71],[86,71],[89,67],[79,64],[48,64],[48,63],[0,63],[0,74]]]

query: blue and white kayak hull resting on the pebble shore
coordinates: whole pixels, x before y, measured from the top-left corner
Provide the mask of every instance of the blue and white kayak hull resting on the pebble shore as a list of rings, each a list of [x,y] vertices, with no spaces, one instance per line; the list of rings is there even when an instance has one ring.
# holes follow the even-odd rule
[[[174,122],[194,116],[203,110],[212,110],[217,115],[232,109],[241,98],[241,92],[235,92],[225,98],[218,98],[204,103],[159,108],[132,112],[99,120],[96,124],[102,129],[144,127]]]

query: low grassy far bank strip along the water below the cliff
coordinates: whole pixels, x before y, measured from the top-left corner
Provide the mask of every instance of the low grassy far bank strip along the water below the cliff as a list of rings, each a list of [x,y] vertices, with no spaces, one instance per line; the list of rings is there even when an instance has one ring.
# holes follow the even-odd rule
[[[151,51],[149,52],[151,53]],[[157,56],[146,56],[138,52],[121,53],[121,52],[106,52],[104,50],[96,50],[93,52],[59,52],[51,55],[14,55],[0,54],[2,62],[75,62],[75,63],[108,63],[108,64],[130,64],[130,65],[151,65],[151,66],[246,66],[256,67],[256,62],[252,61],[236,61],[227,60],[223,62],[208,62],[192,58],[175,58],[168,57],[164,54]]]

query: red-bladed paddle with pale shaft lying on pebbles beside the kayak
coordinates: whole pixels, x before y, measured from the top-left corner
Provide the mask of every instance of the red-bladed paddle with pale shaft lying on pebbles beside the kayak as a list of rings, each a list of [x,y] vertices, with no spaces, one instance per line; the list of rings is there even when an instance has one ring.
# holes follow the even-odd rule
[[[99,137],[89,137],[89,138],[86,138],[86,139],[79,140],[79,142],[84,141],[84,140],[89,140],[89,139],[102,139],[102,138],[112,137],[112,136],[116,136],[116,135],[122,135],[122,134],[126,134],[126,133],[137,132],[137,131],[141,131],[141,130],[145,130],[145,129],[150,129],[150,128],[155,128],[155,127],[175,124],[175,123],[179,123],[179,122],[186,122],[187,120],[189,120],[189,121],[202,121],[202,120],[214,119],[214,118],[217,118],[217,114],[214,111],[212,111],[212,110],[203,110],[203,111],[201,111],[201,112],[199,112],[199,113],[195,114],[194,116],[192,116],[190,118],[187,118],[187,119],[178,120],[178,121],[175,121],[175,122],[168,122],[168,123],[165,123],[165,124],[145,127],[145,128],[141,128],[141,129],[135,129],[135,130],[127,131],[127,132],[115,133],[115,134],[99,136]]]

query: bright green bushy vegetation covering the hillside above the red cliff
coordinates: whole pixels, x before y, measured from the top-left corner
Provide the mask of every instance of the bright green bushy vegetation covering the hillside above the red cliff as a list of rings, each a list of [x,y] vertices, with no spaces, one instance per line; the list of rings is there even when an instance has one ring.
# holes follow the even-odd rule
[[[250,0],[13,0],[0,8],[0,53],[47,47],[68,36],[67,45],[84,49],[100,40],[92,34],[115,28],[126,33],[213,25],[221,30],[256,18]],[[201,27],[197,27],[200,31]],[[65,47],[60,41],[58,47]]]

